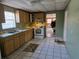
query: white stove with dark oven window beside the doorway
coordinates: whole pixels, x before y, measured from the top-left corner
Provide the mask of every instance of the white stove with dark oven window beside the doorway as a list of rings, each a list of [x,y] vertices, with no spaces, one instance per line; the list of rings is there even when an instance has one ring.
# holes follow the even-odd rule
[[[44,38],[44,27],[34,30],[34,38],[35,39],[43,39]]]

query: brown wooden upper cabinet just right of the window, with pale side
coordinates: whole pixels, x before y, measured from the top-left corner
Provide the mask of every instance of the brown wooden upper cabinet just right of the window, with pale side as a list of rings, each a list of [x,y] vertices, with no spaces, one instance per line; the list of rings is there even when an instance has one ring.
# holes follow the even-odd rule
[[[16,22],[21,24],[27,24],[29,22],[29,13],[22,10],[17,10]]]

